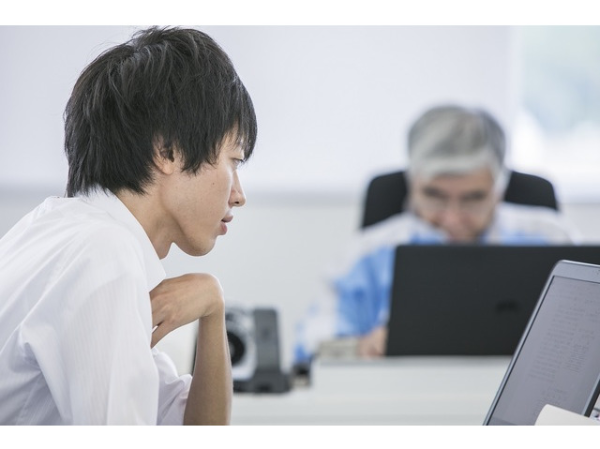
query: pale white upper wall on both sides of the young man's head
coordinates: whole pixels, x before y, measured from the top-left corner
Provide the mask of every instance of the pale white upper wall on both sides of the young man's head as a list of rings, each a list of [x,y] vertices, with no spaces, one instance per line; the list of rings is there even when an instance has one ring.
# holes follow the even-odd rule
[[[0,26],[0,185],[63,187],[62,113],[83,67],[134,27]],[[432,103],[490,109],[510,129],[510,27],[210,26],[258,119],[252,192],[358,194],[404,162]]]

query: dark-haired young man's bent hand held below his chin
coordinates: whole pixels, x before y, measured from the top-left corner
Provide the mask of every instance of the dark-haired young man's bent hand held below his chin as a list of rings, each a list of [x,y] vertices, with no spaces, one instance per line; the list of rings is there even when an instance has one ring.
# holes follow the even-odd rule
[[[152,303],[152,346],[169,332],[225,308],[223,289],[210,274],[185,274],[165,279],[150,292]]]

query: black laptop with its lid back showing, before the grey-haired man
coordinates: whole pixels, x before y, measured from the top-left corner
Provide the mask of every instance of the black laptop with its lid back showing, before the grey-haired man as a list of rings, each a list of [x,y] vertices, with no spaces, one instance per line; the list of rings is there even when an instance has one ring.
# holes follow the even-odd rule
[[[400,245],[387,356],[512,356],[553,266],[600,246]]]

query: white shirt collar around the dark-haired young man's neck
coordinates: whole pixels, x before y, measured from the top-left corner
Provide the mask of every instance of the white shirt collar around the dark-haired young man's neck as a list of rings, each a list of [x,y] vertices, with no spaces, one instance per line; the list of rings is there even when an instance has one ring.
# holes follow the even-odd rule
[[[124,225],[135,236],[142,248],[144,264],[146,266],[146,281],[148,291],[156,287],[163,279],[165,279],[165,269],[160,262],[156,250],[135,216],[127,209],[125,204],[110,191],[96,189],[87,196],[82,196],[80,199],[93,207],[97,207],[107,212],[113,219]]]

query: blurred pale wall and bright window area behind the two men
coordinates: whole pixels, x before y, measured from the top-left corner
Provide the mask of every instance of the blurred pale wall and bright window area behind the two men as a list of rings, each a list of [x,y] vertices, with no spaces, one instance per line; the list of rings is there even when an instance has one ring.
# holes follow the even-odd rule
[[[282,359],[324,265],[358,229],[375,175],[404,167],[426,108],[488,109],[508,165],[542,175],[585,240],[600,241],[600,27],[198,26],[233,60],[259,136],[247,204],[203,258],[173,248],[167,274],[208,271],[230,304],[276,307]],[[132,26],[0,26],[0,235],[67,172],[62,114],[75,80]],[[1,275],[1,274],[0,274]],[[191,369],[195,329],[161,342]]]

